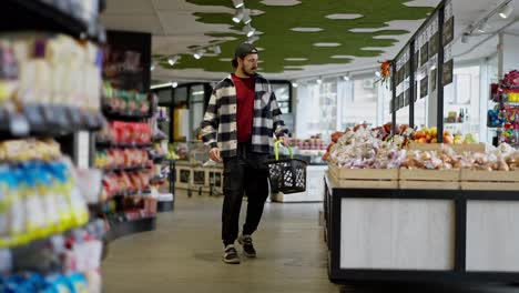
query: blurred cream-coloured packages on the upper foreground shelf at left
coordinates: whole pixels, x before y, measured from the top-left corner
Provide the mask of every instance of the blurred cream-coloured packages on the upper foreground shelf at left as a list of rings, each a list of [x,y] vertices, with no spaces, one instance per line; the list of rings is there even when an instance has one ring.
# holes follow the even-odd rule
[[[17,33],[0,44],[0,131],[3,137],[95,130],[102,51],[68,36]]]

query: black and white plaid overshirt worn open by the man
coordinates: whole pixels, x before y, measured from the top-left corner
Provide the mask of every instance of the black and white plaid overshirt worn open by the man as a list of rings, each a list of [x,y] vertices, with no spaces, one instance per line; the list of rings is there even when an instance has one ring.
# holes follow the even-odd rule
[[[271,84],[260,74],[254,78],[252,151],[271,153],[273,135],[287,135],[288,130]],[[222,158],[236,155],[236,88],[231,75],[215,85],[201,128],[204,143],[210,148],[220,148]]]

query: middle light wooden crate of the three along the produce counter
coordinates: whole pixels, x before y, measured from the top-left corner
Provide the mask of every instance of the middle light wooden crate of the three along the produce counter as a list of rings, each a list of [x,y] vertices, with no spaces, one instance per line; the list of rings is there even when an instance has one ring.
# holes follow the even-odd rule
[[[458,190],[459,170],[400,169],[400,189]]]

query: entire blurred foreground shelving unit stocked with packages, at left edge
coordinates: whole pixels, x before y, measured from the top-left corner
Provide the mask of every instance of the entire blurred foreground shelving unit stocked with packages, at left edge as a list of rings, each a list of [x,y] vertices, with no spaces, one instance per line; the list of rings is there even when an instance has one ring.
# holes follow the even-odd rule
[[[104,225],[88,209],[98,203],[101,173],[77,170],[52,139],[105,124],[102,50],[91,41],[102,32],[99,2],[22,0],[6,9],[12,30],[0,36],[0,291],[101,292]]]

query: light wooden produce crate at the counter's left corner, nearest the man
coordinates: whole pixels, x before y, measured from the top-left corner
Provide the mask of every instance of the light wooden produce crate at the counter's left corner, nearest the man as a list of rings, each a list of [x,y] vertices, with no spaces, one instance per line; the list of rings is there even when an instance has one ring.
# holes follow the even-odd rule
[[[398,189],[398,169],[346,169],[328,166],[337,186],[345,189]]]

